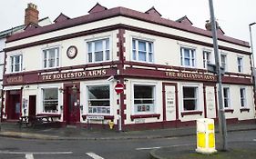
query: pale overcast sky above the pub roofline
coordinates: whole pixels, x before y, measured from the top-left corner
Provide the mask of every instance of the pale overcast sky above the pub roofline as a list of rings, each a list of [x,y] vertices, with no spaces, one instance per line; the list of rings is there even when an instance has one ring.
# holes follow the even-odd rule
[[[164,18],[177,20],[187,15],[193,25],[200,28],[210,19],[209,0],[1,0],[0,31],[23,25],[28,3],[37,5],[39,18],[49,16],[53,21],[60,13],[71,18],[87,15],[97,2],[107,8],[124,6],[139,12],[155,6]],[[256,22],[256,0],[213,0],[213,3],[215,16],[225,34],[249,42],[248,25]],[[256,44],[256,25],[252,26],[252,33]]]

